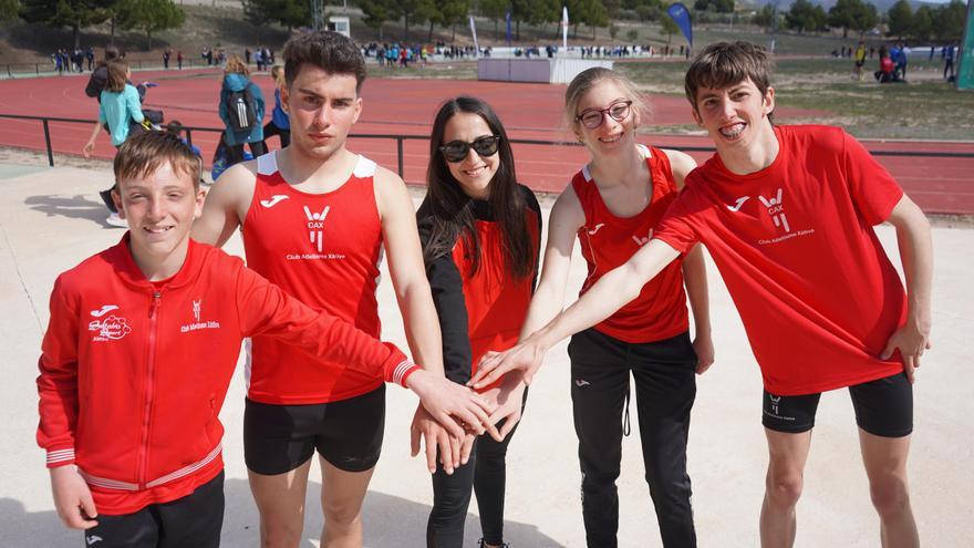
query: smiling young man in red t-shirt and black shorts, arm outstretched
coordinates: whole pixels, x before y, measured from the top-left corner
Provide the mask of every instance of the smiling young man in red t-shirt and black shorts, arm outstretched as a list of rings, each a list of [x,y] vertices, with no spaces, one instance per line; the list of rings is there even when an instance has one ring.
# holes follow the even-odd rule
[[[930,348],[932,244],[923,213],[837,127],[774,126],[769,61],[709,45],[686,74],[717,154],[686,177],[654,240],[506,354],[474,386],[526,378],[557,341],[612,314],[697,241],[721,270],[761,368],[769,452],[763,546],[791,546],[821,392],[849,387],[882,546],[919,546],[906,487],[912,382]],[[897,228],[906,291],[872,226]]]

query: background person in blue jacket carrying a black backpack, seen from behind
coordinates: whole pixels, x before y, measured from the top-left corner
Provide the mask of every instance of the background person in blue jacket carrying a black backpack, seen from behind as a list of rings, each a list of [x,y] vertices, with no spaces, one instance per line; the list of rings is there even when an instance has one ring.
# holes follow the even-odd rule
[[[226,127],[224,138],[229,165],[244,161],[245,144],[250,146],[255,157],[267,152],[263,144],[263,93],[250,82],[250,71],[237,55],[227,61],[224,70],[219,112]]]

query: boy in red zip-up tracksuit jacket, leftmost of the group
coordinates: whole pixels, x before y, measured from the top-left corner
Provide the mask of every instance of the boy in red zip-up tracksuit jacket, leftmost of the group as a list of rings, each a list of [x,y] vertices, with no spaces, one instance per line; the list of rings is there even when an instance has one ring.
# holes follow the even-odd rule
[[[219,545],[218,416],[245,337],[277,337],[381,371],[459,435],[457,421],[487,420],[473,392],[311,310],[239,258],[191,241],[204,199],[198,172],[178,137],[151,132],[126,142],[115,157],[114,199],[129,231],[62,273],[51,293],[38,443],[58,513],[87,529],[89,546]]]

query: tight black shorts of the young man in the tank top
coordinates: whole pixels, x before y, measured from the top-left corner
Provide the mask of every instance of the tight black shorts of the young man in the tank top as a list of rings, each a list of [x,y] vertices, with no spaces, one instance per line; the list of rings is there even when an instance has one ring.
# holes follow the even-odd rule
[[[364,472],[379,462],[385,432],[385,385],[360,396],[312,405],[250,400],[244,410],[244,461],[267,476],[301,466],[314,451],[332,466]]]

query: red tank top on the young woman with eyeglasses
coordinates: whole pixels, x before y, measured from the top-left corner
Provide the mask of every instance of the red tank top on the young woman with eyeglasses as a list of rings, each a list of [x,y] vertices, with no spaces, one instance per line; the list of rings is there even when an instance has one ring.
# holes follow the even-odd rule
[[[602,275],[628,261],[641,246],[650,241],[656,224],[676,199],[670,158],[659,148],[640,146],[646,154],[653,196],[650,205],[633,217],[612,215],[602,201],[602,195],[588,167],[571,179],[571,186],[586,214],[586,224],[579,229],[578,238],[589,275],[579,294],[584,294]],[[690,320],[682,267],[681,257],[643,286],[639,297],[594,328],[610,337],[633,343],[661,341],[686,331]]]

